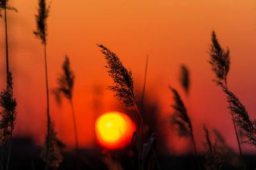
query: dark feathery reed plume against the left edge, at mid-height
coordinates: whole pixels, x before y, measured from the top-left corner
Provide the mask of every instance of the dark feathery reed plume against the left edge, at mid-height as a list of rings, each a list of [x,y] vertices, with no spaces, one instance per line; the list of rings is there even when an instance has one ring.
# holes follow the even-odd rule
[[[0,94],[0,104],[3,110],[0,112],[0,145],[4,145],[12,136],[16,120],[16,99],[13,97],[13,81],[12,73],[9,72],[7,79],[7,87]]]

